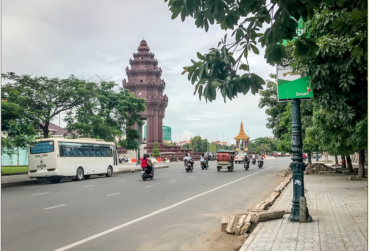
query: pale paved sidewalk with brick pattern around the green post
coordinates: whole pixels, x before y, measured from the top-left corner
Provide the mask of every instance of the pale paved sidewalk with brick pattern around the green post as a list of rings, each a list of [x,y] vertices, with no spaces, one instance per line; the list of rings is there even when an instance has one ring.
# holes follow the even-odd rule
[[[263,221],[240,251],[367,251],[368,181],[348,181],[348,175],[304,175],[310,223],[282,219]],[[290,182],[270,210],[290,210]]]

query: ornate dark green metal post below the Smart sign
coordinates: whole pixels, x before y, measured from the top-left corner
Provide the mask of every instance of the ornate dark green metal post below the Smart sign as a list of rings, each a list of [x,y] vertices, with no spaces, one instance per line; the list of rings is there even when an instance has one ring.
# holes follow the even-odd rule
[[[292,99],[292,163],[290,168],[293,177],[293,199],[291,214],[288,217],[290,221],[300,221],[300,197],[304,197],[304,171],[306,164],[302,157],[302,136],[301,136],[301,113],[300,99]],[[312,218],[306,208],[306,221],[311,221]]]

